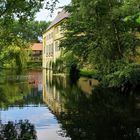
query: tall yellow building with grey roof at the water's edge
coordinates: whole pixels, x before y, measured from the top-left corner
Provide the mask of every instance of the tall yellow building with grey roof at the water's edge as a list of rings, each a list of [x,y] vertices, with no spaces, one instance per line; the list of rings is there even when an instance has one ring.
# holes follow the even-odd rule
[[[51,69],[52,62],[55,62],[61,54],[59,44],[64,37],[61,24],[68,17],[68,12],[64,10],[59,12],[43,34],[43,68]]]

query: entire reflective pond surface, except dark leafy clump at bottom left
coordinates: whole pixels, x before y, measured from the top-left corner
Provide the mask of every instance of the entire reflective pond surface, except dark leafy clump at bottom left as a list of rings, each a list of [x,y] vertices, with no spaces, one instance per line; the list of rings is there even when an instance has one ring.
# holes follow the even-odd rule
[[[84,77],[71,83],[46,70],[0,75],[2,124],[29,120],[38,140],[140,139],[139,93],[124,96]]]

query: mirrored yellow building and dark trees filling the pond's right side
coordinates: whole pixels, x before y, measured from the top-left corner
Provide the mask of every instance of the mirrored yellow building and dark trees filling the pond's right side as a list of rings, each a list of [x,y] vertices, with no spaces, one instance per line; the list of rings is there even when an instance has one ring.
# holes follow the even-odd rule
[[[138,95],[124,96],[113,89],[101,87],[94,88],[93,94],[86,94],[91,92],[92,82],[89,79],[81,78],[77,85],[71,85],[61,76],[46,77],[43,100],[65,130],[60,131],[60,135],[65,132],[65,136],[72,140],[140,139]],[[97,81],[93,83],[98,84]]]

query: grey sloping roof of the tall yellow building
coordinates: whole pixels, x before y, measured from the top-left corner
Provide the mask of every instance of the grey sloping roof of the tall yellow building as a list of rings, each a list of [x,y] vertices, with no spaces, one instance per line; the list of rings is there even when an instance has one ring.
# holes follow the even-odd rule
[[[59,23],[63,19],[68,18],[69,15],[70,14],[68,12],[66,12],[65,10],[62,10],[61,12],[59,12],[58,15],[56,16],[56,18],[52,21],[50,26],[47,28],[47,30],[49,30],[51,27],[53,27],[54,25],[56,25],[57,23]]]

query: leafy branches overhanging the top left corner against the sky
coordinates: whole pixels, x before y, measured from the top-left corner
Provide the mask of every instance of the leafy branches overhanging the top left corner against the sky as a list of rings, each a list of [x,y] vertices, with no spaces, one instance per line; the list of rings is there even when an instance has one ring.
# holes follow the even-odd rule
[[[58,0],[1,0],[0,2],[0,47],[11,42],[11,38],[15,35],[14,25],[21,26],[23,29],[28,25],[28,21],[32,21],[36,12],[44,5],[47,9],[53,10]],[[43,24],[40,23],[40,25]],[[21,29],[21,28],[20,28]],[[13,31],[13,32],[12,32]],[[18,34],[19,35],[19,34]]]

